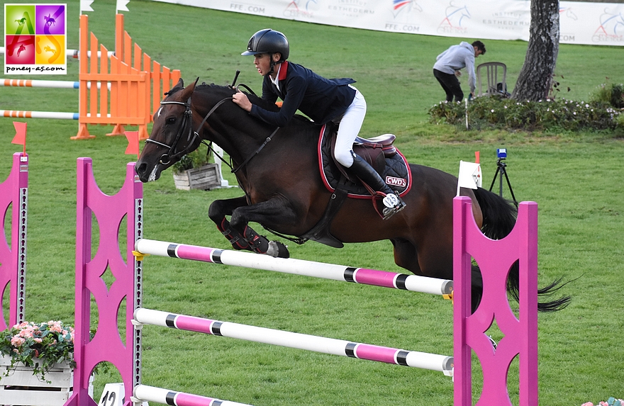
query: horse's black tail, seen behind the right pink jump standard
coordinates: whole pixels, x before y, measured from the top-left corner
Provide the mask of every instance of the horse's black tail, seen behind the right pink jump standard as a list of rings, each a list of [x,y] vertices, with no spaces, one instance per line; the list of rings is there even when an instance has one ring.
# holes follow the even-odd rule
[[[477,197],[477,202],[479,206],[481,206],[481,213],[483,215],[481,231],[484,235],[491,239],[502,239],[506,237],[511,230],[513,230],[513,226],[516,225],[516,215],[518,215],[518,211],[514,205],[501,196],[498,196],[496,193],[487,191],[484,188],[477,188],[477,190],[474,191],[474,196]],[[552,281],[549,285],[538,289],[537,295],[540,297],[550,297],[565,286],[566,283],[562,283],[562,278],[559,278]],[[509,271],[507,290],[516,301],[520,300],[518,261],[513,263]],[[562,296],[555,300],[537,302],[537,310],[540,312],[562,310],[569,305],[570,300],[570,296]]]

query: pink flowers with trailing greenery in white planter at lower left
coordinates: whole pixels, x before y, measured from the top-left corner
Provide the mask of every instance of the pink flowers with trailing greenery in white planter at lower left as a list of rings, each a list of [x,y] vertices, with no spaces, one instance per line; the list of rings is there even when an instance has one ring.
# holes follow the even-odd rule
[[[60,321],[22,322],[0,333],[3,404],[63,405],[72,393],[74,329]],[[90,390],[91,391],[91,390]]]

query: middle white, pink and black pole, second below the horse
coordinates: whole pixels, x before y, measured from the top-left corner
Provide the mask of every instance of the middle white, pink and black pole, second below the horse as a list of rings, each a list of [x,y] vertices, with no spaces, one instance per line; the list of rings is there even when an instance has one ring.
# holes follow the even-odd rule
[[[244,339],[251,342],[286,346],[289,348],[315,351],[323,354],[350,356],[414,368],[430,369],[452,376],[453,357],[428,354],[419,351],[406,351],[387,346],[376,346],[350,342],[341,339],[318,337],[309,334],[285,332],[264,327],[240,325],[233,322],[220,322],[201,317],[176,315],[159,310],[138,308],[134,320],[140,325],[157,325],[174,329],[199,332],[222,337]]]

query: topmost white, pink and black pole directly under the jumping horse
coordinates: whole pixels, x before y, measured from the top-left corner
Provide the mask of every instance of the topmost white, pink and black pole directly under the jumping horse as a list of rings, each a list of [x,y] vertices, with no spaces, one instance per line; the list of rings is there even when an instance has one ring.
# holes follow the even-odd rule
[[[303,259],[275,258],[251,252],[234,251],[232,249],[199,247],[197,245],[177,244],[145,238],[139,239],[135,247],[135,255],[138,256],[145,254],[170,256],[172,258],[191,259],[212,264],[243,266],[245,268],[263,269],[264,271],[282,272],[284,274],[313,276],[334,281],[362,283],[364,285],[444,295],[446,298],[450,298],[453,291],[453,281],[447,279],[396,274],[394,272],[377,271],[376,269],[325,264]]]

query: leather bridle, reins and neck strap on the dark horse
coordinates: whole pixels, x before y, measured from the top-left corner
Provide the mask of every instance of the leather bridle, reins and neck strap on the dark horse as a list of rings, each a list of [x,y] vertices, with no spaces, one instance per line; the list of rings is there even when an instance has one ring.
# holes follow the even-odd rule
[[[244,85],[243,85],[244,86]],[[246,89],[247,86],[245,86]],[[253,92],[252,92],[253,93]],[[191,94],[192,96],[192,94]],[[180,129],[176,135],[176,138],[174,140],[174,142],[172,143],[172,145],[167,145],[163,142],[158,142],[155,140],[152,140],[150,138],[147,138],[147,140],[145,140],[145,143],[152,143],[152,144],[156,144],[156,145],[160,145],[161,147],[165,147],[165,148],[169,148],[168,152],[165,152],[165,154],[162,154],[160,156],[159,159],[159,163],[162,165],[167,165],[169,164],[172,159],[177,159],[178,157],[182,157],[184,155],[186,155],[187,153],[189,153],[191,146],[194,144],[195,140],[197,139],[197,137],[199,137],[199,130],[201,130],[201,128],[204,126],[204,124],[206,123],[206,120],[208,120],[208,117],[210,117],[210,115],[212,113],[214,113],[214,111],[218,108],[218,106],[221,106],[221,104],[225,103],[225,101],[228,100],[232,100],[232,96],[223,98],[221,101],[218,101],[218,103],[215,104],[215,106],[213,106],[213,108],[210,109],[210,111],[208,111],[208,114],[206,114],[206,117],[204,117],[204,120],[201,120],[201,123],[199,124],[199,126],[197,127],[197,130],[193,131],[193,128],[191,126],[191,115],[193,114],[193,111],[191,110],[191,96],[189,96],[189,98],[186,100],[186,102],[184,101],[161,101],[160,105],[161,106],[165,106],[167,104],[179,104],[180,106],[184,106],[185,110],[184,110],[184,116],[182,118],[182,125],[180,126]],[[177,147],[177,144],[180,140],[180,137],[182,137],[182,134],[184,133],[184,131],[186,130],[186,128],[188,128],[188,132],[189,134],[186,136],[186,141],[188,141],[188,144],[186,145],[186,147],[184,148],[184,150],[180,151],[180,152],[176,152],[174,154],[172,154],[175,150],[175,148]],[[231,164],[228,164],[228,162],[225,162],[225,160],[223,160],[223,158],[221,158],[221,156],[219,154],[215,154],[216,157],[219,157],[219,159],[221,159],[223,162],[225,162],[225,164],[228,165],[228,167],[230,167],[231,172],[233,174],[235,174],[239,169],[241,169],[242,167],[244,167],[247,162],[250,162],[250,160],[255,157],[255,155],[260,152],[262,150],[262,148],[264,148],[265,145],[267,145],[269,143],[269,141],[272,140],[273,136],[275,135],[275,133],[277,132],[277,130],[279,130],[279,127],[276,128],[271,135],[269,135],[269,137],[267,137],[266,140],[264,140],[264,142],[262,143],[262,145],[260,145],[260,147],[256,150],[256,152],[254,152],[253,154],[251,154],[249,157],[247,157],[247,159],[245,159],[245,161],[243,162],[243,164],[240,164],[238,166],[238,168],[234,169],[232,167]],[[191,132],[193,135],[193,139],[191,140]],[[211,146],[208,146],[208,148],[210,150],[212,150]]]

